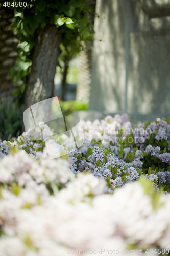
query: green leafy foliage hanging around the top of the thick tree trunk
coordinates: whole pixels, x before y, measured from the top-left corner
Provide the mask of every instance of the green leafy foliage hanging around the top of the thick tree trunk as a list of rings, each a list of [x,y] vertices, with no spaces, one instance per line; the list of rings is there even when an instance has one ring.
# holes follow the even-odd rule
[[[93,36],[87,19],[87,13],[92,10],[86,0],[31,0],[27,7],[15,7],[14,10],[15,21],[11,27],[17,33],[20,44],[10,76],[14,83],[23,81],[22,90],[26,87],[32,65],[32,52],[38,29],[43,30],[48,24],[52,24],[60,30],[61,56],[77,54],[82,48],[82,41],[88,44],[89,38]]]

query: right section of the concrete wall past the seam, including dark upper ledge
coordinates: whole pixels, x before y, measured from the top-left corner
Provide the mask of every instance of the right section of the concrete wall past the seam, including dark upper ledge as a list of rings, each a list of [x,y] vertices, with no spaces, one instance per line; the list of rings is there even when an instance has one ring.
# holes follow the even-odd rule
[[[144,9],[142,3],[147,3]],[[164,3],[131,0],[134,33],[129,34],[128,113],[168,115],[170,17]],[[150,9],[161,17],[150,15]]]

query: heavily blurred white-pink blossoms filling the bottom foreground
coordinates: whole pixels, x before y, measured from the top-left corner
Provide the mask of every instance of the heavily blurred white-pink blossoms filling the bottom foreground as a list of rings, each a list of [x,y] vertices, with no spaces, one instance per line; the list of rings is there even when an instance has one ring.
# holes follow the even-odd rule
[[[79,174],[56,195],[45,187],[30,186],[18,195],[2,188],[0,255],[65,256],[85,248],[126,250],[132,243],[170,248],[170,195],[160,195],[154,208],[140,182],[114,194],[105,188],[92,174]]]

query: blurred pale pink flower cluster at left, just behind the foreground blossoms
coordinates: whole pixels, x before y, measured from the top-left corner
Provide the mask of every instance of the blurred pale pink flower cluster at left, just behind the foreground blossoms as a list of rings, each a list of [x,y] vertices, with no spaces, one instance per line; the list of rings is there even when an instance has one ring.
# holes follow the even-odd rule
[[[69,161],[62,158],[43,159],[43,155],[40,154],[39,161],[24,150],[7,155],[0,162],[0,182],[10,184],[16,181],[19,186],[26,186],[32,182],[66,184],[72,178]]]

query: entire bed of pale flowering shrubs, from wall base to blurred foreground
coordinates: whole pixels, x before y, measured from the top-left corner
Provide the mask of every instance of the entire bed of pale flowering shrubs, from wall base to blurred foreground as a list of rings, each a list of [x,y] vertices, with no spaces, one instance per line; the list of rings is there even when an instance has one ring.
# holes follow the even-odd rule
[[[154,136],[148,134],[137,146],[139,133],[127,115],[82,123],[85,143],[67,158],[48,158],[49,144],[53,152],[61,146],[45,124],[0,142],[0,254],[64,256],[84,248],[90,254],[102,254],[101,248],[110,254],[127,249],[136,255],[139,249],[140,254],[168,254],[170,195],[164,184],[169,184],[169,168],[161,174],[149,168],[142,175],[134,159],[158,153],[154,144],[145,144],[150,137],[160,146],[163,140],[169,144],[170,125],[165,120],[139,123],[140,134],[150,127]],[[45,143],[38,140],[42,132]],[[122,142],[113,143],[114,138]],[[129,147],[122,148],[125,144]],[[169,164],[168,151],[162,163]]]

